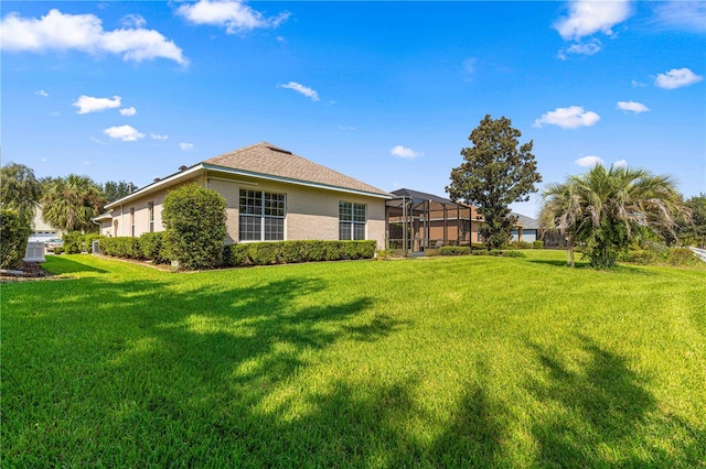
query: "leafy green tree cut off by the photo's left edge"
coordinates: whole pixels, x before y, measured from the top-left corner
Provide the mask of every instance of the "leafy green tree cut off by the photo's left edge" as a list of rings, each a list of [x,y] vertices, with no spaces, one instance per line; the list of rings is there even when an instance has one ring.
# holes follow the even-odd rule
[[[41,197],[42,185],[30,167],[10,162],[0,168],[0,203],[14,210],[21,223],[32,227]]]

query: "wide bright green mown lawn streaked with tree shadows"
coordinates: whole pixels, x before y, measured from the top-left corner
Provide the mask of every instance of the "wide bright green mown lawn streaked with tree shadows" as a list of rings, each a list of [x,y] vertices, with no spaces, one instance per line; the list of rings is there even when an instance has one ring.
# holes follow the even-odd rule
[[[527,258],[3,284],[6,467],[706,466],[706,270]]]

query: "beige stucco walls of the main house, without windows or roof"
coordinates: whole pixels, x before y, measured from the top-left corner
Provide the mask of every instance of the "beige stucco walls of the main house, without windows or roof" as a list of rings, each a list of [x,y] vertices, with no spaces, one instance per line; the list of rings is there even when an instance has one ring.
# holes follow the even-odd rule
[[[190,183],[194,182],[203,182],[203,178],[197,176],[190,181]],[[286,195],[285,240],[338,240],[339,201],[343,200],[366,206],[365,239],[377,241],[378,249],[383,249],[385,246],[385,199],[383,198],[250,177],[238,177],[237,179],[206,177],[205,185],[226,199],[226,243],[234,243],[238,240],[239,189],[244,188]],[[175,187],[170,187],[170,189]],[[168,192],[168,189],[163,189],[114,207],[111,215],[113,220],[118,221],[117,233],[114,227],[107,223],[101,227],[101,233],[120,237],[131,236],[130,208],[135,208],[135,236],[139,237],[148,232],[147,206],[150,201],[154,204],[154,231],[163,231],[162,201]]]

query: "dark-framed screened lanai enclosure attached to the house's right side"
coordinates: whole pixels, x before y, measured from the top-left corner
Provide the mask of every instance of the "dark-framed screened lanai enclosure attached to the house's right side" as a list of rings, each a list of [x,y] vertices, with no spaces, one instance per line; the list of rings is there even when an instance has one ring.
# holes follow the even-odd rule
[[[475,207],[413,189],[387,200],[387,246],[398,255],[424,255],[442,246],[478,242]]]

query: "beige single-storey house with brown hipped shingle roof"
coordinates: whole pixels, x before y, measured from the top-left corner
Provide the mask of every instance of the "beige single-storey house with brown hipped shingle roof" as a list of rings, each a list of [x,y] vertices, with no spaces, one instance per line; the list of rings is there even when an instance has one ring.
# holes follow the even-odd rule
[[[101,234],[113,237],[162,231],[164,196],[184,184],[200,184],[226,199],[227,244],[368,239],[385,247],[391,194],[267,142],[182,166],[108,204],[94,221]]]

